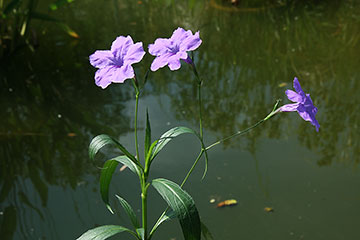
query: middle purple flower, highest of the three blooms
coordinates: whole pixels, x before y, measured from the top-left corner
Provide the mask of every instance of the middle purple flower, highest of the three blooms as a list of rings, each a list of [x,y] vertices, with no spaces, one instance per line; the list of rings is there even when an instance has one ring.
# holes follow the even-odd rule
[[[201,44],[199,32],[192,34],[190,30],[176,29],[170,38],[158,38],[154,44],[149,45],[149,53],[156,56],[151,64],[151,71],[156,71],[166,65],[170,70],[181,67],[180,59],[191,64],[187,51],[197,49]]]

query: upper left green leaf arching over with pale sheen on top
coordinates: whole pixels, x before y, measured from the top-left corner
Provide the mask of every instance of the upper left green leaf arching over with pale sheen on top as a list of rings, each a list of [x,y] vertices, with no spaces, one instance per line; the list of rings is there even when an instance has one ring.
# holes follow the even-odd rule
[[[112,138],[106,134],[98,135],[98,136],[94,137],[93,140],[91,140],[90,146],[89,146],[90,159],[93,160],[96,153],[105,145],[116,146],[118,149],[120,149],[121,152],[123,152],[126,156],[128,156],[128,158],[130,158],[134,163],[137,164],[137,162],[138,162],[137,159],[131,153],[129,153],[123,145],[121,145],[114,138]]]

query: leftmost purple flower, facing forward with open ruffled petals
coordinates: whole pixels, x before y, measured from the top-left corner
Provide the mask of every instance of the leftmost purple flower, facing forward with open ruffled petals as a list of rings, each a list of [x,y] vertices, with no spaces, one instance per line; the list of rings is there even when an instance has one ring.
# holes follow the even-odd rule
[[[106,88],[110,83],[123,83],[135,77],[131,64],[140,62],[145,51],[142,42],[135,43],[130,36],[117,37],[111,50],[98,50],[90,55],[90,64],[98,68],[95,73],[96,85]]]

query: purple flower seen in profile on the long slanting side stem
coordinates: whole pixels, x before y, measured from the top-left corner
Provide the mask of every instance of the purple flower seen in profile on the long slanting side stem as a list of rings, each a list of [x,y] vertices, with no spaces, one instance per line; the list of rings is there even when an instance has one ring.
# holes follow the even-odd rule
[[[297,111],[305,121],[309,121],[312,125],[316,127],[316,131],[319,131],[319,123],[315,119],[315,115],[317,113],[317,108],[314,106],[310,94],[305,94],[305,92],[301,89],[299,80],[294,78],[294,89],[296,92],[292,90],[286,90],[285,94],[288,99],[292,102],[292,104],[286,104],[279,108],[280,112],[295,112]]]

